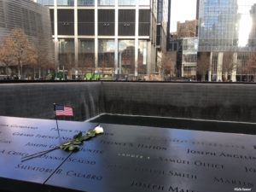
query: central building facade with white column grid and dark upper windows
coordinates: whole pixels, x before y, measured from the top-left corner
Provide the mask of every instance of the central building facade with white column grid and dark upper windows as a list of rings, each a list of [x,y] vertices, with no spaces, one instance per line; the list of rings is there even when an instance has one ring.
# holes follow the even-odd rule
[[[157,49],[166,50],[169,1],[37,2],[50,10],[57,66],[77,78],[88,70],[112,77],[155,72]]]

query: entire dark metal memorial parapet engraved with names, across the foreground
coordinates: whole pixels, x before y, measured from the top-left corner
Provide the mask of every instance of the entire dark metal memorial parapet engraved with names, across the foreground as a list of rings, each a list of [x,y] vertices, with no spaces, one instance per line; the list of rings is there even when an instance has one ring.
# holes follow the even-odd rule
[[[26,191],[32,191],[31,186],[34,191],[90,192],[256,190],[255,136],[102,124],[105,133],[85,142],[67,160],[56,160],[70,154],[56,150],[47,154],[48,158],[21,163],[19,155],[5,151],[32,154],[58,144],[57,139],[35,137],[38,134],[57,137],[55,121],[2,117],[0,122],[0,190],[20,191],[7,188],[3,177],[8,177],[14,185],[28,182],[21,182]],[[61,137],[73,137],[79,130],[93,127],[93,124],[67,121],[59,125]],[[16,136],[15,132],[33,136]],[[47,147],[27,146],[27,143]],[[54,171],[15,168],[21,167],[20,164]]]

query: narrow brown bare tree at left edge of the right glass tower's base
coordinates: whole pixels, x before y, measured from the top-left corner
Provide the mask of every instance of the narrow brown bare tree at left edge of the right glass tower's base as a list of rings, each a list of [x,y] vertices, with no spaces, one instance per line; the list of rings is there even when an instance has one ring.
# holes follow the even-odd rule
[[[199,52],[197,60],[197,73],[201,75],[201,81],[206,79],[206,74],[210,69],[210,55],[208,52]]]

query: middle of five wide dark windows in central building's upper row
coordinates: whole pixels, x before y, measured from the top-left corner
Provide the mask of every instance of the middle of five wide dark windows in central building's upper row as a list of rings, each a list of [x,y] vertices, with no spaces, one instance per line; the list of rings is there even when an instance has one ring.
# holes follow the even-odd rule
[[[98,10],[98,35],[114,36],[114,10]]]

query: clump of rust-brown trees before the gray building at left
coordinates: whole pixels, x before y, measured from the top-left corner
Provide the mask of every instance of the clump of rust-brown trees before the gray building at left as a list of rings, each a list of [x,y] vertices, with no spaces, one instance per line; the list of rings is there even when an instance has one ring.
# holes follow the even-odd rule
[[[6,67],[17,66],[20,78],[22,77],[22,67],[30,66],[34,70],[35,79],[36,70],[38,77],[41,78],[41,68],[52,68],[54,62],[50,60],[47,50],[40,49],[43,40],[38,39],[38,49],[29,42],[26,34],[19,28],[14,28],[11,33],[3,38],[0,45],[0,61]],[[29,72],[30,70],[28,70]],[[6,70],[8,73],[8,69]]]

